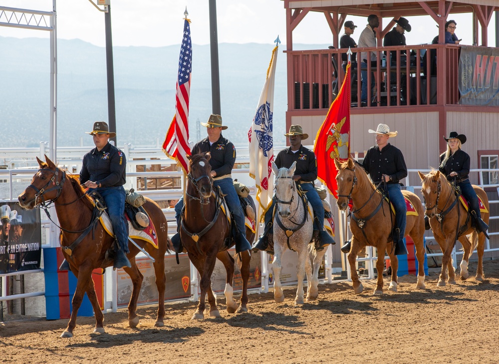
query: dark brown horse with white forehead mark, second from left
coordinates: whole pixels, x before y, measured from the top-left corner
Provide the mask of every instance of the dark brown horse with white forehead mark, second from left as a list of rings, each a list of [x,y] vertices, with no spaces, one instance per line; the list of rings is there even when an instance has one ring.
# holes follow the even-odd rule
[[[205,297],[208,293],[210,304],[210,316],[220,317],[217,308],[217,300],[211,288],[211,276],[218,258],[227,271],[225,286],[225,297],[227,298],[227,312],[234,313],[238,305],[234,300],[232,281],[234,277],[234,258],[227,249],[233,245],[229,242],[231,227],[229,221],[222,211],[220,197],[213,192],[212,178],[210,177],[211,166],[210,153],[195,154],[188,156],[189,174],[187,180],[186,205],[180,237],[182,244],[187,250],[189,259],[201,275],[201,296],[198,309],[192,319],[204,319]],[[252,206],[254,210],[254,205]],[[225,214],[230,214],[225,207]],[[248,241],[253,241],[254,233],[246,229]],[[250,278],[250,252],[240,253],[238,264],[241,267],[243,279],[243,294],[238,312],[247,312],[248,308],[248,280]]]

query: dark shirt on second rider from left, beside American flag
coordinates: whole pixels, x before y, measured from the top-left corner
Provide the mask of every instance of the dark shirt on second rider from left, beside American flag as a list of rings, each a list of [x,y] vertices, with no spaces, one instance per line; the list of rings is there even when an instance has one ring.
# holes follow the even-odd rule
[[[210,141],[206,137],[197,142],[192,148],[192,154],[205,152],[210,152],[212,155],[210,165],[212,166],[212,171],[217,173],[215,178],[231,174],[234,163],[236,163],[236,148],[229,139],[224,138],[220,134],[219,140],[210,145]]]

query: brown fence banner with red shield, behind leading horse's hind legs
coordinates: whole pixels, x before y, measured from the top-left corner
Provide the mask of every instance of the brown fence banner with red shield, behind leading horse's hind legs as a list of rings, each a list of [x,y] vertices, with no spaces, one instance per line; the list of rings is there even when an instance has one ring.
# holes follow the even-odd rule
[[[180,264],[177,265],[175,255],[165,256],[166,288],[165,300],[178,300],[191,297],[191,271],[187,254],[179,254]],[[153,262],[147,258],[136,260],[140,273],[144,276],[139,293],[138,304],[149,305],[158,302],[158,289],[154,275]],[[133,285],[130,276],[123,269],[118,269],[118,308],[128,306],[132,297]]]

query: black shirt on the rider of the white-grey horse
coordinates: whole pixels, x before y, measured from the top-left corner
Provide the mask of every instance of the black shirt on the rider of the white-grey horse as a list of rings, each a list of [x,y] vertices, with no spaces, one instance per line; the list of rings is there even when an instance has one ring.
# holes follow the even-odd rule
[[[314,152],[300,145],[300,149],[295,153],[289,147],[281,150],[275,158],[277,168],[289,168],[293,162],[296,162],[294,175],[300,175],[300,181],[313,182],[317,179],[317,160],[315,159]]]

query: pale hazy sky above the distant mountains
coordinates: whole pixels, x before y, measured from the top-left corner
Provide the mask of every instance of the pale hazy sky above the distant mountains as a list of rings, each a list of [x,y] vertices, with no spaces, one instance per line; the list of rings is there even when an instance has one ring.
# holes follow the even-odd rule
[[[97,2],[97,0],[94,0]],[[183,31],[183,13],[187,5],[192,41],[208,44],[208,0],[111,0],[113,45],[164,46],[179,44]],[[0,0],[0,6],[52,10],[52,0]],[[404,15],[404,14],[401,14]],[[218,39],[228,43],[271,43],[279,35],[285,46],[286,24],[281,0],[217,0]],[[436,23],[429,16],[408,17],[412,31],[406,32],[407,44],[431,42],[437,35]],[[456,34],[461,44],[472,44],[471,14],[450,15],[457,21]],[[347,17],[359,26],[353,35],[358,39],[367,23],[365,18]],[[389,20],[385,19],[385,25]],[[495,46],[495,17],[489,26],[489,45]],[[48,32],[0,26],[1,36],[47,37]],[[105,45],[104,13],[88,0],[57,1],[57,36],[79,38],[95,45]],[[332,43],[329,27],[322,14],[305,16],[293,32],[294,43]]]

